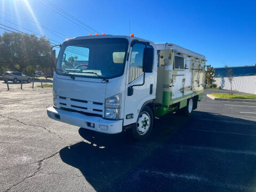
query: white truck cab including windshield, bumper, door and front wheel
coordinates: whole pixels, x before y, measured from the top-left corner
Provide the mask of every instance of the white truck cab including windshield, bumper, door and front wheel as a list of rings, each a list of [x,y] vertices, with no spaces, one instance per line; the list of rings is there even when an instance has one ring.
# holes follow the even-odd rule
[[[61,45],[53,77],[57,121],[102,133],[133,129],[135,139],[150,134],[154,122],[157,51],[133,36],[94,35]]]

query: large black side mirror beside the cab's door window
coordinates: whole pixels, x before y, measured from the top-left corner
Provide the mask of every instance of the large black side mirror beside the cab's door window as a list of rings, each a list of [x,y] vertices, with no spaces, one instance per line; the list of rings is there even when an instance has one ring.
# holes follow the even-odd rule
[[[152,73],[154,63],[154,49],[152,47],[145,47],[143,53],[142,71],[144,73]]]

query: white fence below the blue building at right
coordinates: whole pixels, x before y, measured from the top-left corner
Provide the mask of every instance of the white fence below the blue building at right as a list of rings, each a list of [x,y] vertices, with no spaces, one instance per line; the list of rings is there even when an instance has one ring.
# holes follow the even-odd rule
[[[230,82],[227,77],[218,77],[215,78],[215,81],[215,84],[221,86],[221,89],[230,90]],[[234,77],[232,81],[232,90],[256,94],[256,76]]]

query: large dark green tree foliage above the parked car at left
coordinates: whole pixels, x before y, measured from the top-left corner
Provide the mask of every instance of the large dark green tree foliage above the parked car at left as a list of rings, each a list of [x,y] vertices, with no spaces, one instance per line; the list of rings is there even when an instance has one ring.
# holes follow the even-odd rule
[[[44,36],[21,33],[0,35],[0,73],[20,71],[33,76],[34,71],[51,66],[51,46]]]

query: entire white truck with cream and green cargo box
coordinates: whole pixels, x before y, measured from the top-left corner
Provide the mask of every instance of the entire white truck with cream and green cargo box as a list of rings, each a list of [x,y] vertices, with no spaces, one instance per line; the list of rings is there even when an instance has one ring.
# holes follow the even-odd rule
[[[154,118],[190,115],[203,97],[205,57],[172,43],[90,35],[60,45],[47,115],[102,133],[145,140]]]

